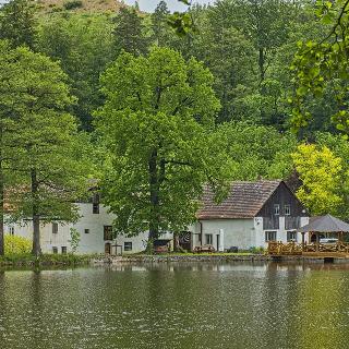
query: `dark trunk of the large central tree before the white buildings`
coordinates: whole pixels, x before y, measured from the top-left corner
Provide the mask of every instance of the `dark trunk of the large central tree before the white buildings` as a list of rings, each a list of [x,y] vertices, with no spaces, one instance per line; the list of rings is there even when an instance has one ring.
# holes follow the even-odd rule
[[[159,237],[159,181],[157,173],[157,149],[152,152],[148,161],[151,217],[149,217],[149,243]]]

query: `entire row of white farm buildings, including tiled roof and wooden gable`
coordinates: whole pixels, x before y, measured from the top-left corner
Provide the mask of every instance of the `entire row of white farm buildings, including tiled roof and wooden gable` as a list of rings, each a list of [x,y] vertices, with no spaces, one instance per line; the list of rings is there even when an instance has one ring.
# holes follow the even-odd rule
[[[41,227],[44,253],[70,252],[71,228],[80,233],[76,252],[81,254],[136,253],[145,249],[147,232],[112,239],[116,216],[98,200],[76,205],[81,216],[76,224],[53,222]],[[197,222],[188,227],[179,243],[185,250],[209,244],[221,252],[230,248],[265,248],[268,241],[301,241],[296,230],[308,222],[304,207],[284,181],[234,182],[228,197],[218,205],[213,201],[213,193],[205,190]],[[31,239],[32,221],[7,226],[5,233]],[[167,233],[160,239],[172,240],[173,237]]]

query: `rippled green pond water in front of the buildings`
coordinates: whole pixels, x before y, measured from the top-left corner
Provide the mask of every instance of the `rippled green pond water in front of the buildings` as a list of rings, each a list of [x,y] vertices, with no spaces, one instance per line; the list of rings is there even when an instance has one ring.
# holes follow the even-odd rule
[[[0,348],[349,348],[349,266],[0,270]]]

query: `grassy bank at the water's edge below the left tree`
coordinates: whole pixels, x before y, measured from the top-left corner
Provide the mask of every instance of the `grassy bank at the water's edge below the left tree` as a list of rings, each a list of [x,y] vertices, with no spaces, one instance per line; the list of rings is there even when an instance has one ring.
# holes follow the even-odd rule
[[[0,256],[0,266],[50,266],[88,264],[96,255],[81,254],[8,254]]]

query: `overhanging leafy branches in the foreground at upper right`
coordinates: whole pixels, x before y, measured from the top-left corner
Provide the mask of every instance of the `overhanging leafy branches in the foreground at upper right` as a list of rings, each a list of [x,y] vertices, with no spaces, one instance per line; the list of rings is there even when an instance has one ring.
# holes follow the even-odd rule
[[[348,1],[318,1],[316,14],[323,34],[318,39],[300,40],[292,64],[296,85],[292,97],[292,124],[296,130],[305,127],[314,116],[308,108],[310,97],[321,98],[330,86],[337,110],[329,115],[337,129],[349,132],[347,105],[349,35]]]

